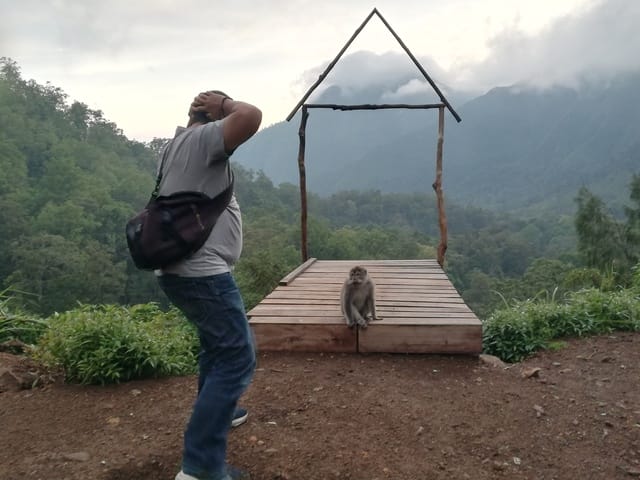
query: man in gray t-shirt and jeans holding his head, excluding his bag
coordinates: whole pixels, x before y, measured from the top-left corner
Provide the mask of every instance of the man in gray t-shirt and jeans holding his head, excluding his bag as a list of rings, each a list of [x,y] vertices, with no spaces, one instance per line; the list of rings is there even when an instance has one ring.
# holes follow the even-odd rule
[[[181,190],[213,197],[230,182],[229,156],[258,130],[262,112],[219,91],[200,93],[166,147],[160,195]],[[249,478],[226,465],[227,435],[246,418],[235,414],[251,382],[256,357],[240,291],[231,271],[242,250],[242,218],[235,196],[195,254],[156,272],[169,300],[196,325],[200,337],[198,396],[184,434],[176,480]]]

